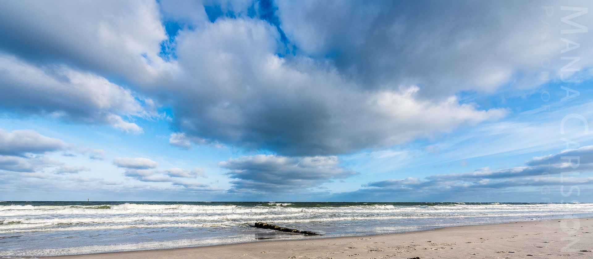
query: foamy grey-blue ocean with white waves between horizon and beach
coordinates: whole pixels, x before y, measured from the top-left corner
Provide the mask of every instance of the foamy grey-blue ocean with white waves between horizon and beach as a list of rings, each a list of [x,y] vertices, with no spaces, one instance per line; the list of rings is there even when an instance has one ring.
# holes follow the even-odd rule
[[[593,203],[0,202],[0,256],[314,239],[593,216]],[[320,236],[253,228],[268,222]]]

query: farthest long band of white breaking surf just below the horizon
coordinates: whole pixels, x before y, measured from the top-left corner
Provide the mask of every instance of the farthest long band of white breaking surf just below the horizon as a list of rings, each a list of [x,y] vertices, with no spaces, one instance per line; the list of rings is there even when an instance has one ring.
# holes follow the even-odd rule
[[[286,204],[288,203],[280,203]],[[286,206],[284,205],[284,206]],[[74,208],[73,208],[74,207]],[[109,207],[106,209],[98,209]],[[91,209],[92,208],[92,209]],[[452,206],[393,206],[393,205],[359,205],[348,207],[318,207],[318,208],[292,208],[283,206],[235,206],[235,205],[146,205],[130,204],[99,205],[99,206],[32,206],[8,205],[0,206],[2,216],[24,215],[118,215],[118,214],[170,214],[170,213],[471,213],[471,212],[528,212],[528,211],[584,211],[592,212],[590,203],[554,203],[534,205],[463,205]]]

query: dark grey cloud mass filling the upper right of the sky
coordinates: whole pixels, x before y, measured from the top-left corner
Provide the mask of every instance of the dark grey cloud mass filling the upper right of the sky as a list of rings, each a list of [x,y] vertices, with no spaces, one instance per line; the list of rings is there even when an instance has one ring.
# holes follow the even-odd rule
[[[560,50],[565,48],[561,41],[547,41],[540,35],[558,33],[568,26],[560,18],[546,17],[541,9],[556,7],[553,1],[276,4],[282,28],[300,53],[327,60],[366,88],[423,85],[423,96],[460,90],[493,92],[506,83],[516,90],[543,83],[539,76],[543,71],[558,79],[560,67],[568,63],[552,62],[547,68],[540,64],[543,55],[560,60]],[[591,2],[575,4],[591,8]],[[554,11],[554,17],[574,13],[557,7]],[[585,24],[584,19],[583,15],[573,21]],[[536,27],[538,30],[533,30]],[[590,41],[591,35],[572,34],[569,38],[581,43]],[[574,51],[571,56],[582,57],[586,50]],[[582,60],[576,66],[591,66],[591,62]]]

